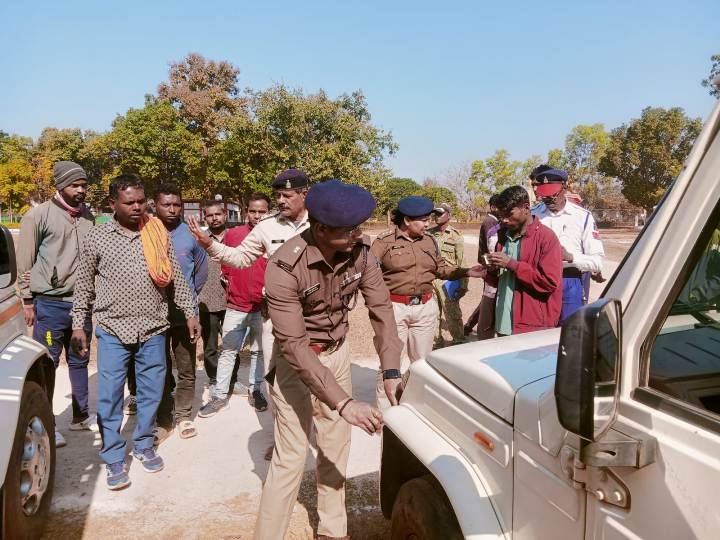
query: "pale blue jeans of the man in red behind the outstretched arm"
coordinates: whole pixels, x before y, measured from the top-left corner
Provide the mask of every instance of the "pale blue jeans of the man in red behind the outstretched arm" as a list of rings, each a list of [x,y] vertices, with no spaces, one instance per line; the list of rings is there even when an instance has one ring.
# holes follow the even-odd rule
[[[247,333],[247,330],[250,330]],[[259,311],[245,313],[228,308],[223,321],[223,343],[218,357],[217,384],[215,396],[225,399],[230,392],[235,357],[243,346],[245,334],[250,339],[250,376],[248,383],[251,390],[259,390],[265,375],[262,347],[262,315]]]

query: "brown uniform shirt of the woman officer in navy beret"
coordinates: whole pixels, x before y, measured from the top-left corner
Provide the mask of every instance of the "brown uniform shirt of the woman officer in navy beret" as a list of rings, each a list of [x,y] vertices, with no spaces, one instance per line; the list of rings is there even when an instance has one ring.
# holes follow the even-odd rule
[[[429,234],[411,240],[397,227],[380,233],[371,251],[380,261],[385,284],[392,294],[414,296],[432,292],[435,278],[460,279],[468,271],[449,267]]]

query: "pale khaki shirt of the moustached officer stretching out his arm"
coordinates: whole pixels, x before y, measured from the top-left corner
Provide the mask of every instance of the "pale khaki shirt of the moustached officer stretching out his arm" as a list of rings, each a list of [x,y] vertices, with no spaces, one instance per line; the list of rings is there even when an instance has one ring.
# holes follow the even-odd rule
[[[297,224],[282,214],[272,214],[253,227],[239,246],[230,247],[213,241],[207,250],[208,255],[213,261],[235,268],[247,268],[263,255],[271,257],[286,241],[309,226],[307,210]]]

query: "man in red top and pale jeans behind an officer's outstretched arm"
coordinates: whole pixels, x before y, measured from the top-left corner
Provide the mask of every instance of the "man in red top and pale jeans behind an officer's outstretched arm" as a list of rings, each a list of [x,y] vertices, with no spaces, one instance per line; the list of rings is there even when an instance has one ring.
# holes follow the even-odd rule
[[[242,244],[253,227],[268,213],[269,208],[270,199],[267,195],[252,194],[248,202],[247,225],[230,229],[225,233],[223,243],[231,247]],[[250,340],[248,400],[258,411],[267,409],[267,400],[262,393],[265,362],[261,346],[263,320],[260,314],[266,266],[267,258],[260,257],[247,268],[232,268],[224,265],[222,267],[223,276],[227,279],[227,310],[223,321],[223,343],[218,358],[217,384],[210,400],[198,412],[201,418],[214,416],[227,407],[235,358],[242,348],[246,335]],[[267,351],[267,354],[269,353],[270,351]]]

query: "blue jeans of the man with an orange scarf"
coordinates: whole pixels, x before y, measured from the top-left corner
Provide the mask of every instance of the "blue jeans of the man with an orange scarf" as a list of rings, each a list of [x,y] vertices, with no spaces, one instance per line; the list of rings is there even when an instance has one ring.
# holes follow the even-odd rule
[[[135,360],[137,424],[133,433],[136,452],[152,448],[153,428],[165,383],[165,334],[127,345],[100,326],[98,339],[98,425],[102,436],[100,457],[105,463],[125,459],[125,439],[120,436],[123,394],[128,362]]]

